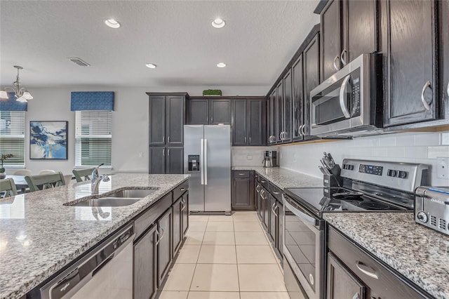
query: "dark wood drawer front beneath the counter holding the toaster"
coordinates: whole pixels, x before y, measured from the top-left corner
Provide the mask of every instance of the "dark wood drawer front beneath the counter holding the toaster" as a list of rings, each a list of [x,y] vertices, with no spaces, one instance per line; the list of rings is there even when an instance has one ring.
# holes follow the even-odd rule
[[[380,298],[429,298],[399,277],[400,274],[392,272],[354,246],[333,227],[328,230],[328,248]]]

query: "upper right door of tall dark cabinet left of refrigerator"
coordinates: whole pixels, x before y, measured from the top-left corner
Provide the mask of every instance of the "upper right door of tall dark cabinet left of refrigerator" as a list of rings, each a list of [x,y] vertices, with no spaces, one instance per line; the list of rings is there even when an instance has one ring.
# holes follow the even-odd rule
[[[185,98],[180,95],[166,95],[166,144],[183,145]]]

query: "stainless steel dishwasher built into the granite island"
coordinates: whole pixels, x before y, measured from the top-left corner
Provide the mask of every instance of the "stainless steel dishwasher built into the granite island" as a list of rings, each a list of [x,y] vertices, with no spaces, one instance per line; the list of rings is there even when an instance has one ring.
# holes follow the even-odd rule
[[[41,288],[41,298],[133,298],[134,226],[129,225]]]

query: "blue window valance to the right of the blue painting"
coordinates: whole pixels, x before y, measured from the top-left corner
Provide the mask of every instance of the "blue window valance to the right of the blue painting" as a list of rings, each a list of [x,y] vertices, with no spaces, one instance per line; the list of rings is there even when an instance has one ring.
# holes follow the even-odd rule
[[[72,91],[70,110],[114,111],[114,91]]]

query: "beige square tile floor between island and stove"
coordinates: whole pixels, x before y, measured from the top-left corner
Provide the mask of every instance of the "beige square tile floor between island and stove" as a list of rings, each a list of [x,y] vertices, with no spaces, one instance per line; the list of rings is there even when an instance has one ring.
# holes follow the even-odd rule
[[[190,215],[161,299],[289,299],[282,268],[254,211]]]

